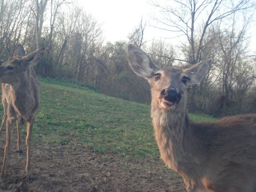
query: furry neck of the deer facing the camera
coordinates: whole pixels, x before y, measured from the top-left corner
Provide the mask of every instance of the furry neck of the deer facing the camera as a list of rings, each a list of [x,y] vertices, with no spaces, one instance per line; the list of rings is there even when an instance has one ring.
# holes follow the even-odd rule
[[[172,112],[152,108],[151,116],[161,159],[169,168],[182,174],[189,172],[188,162],[189,165],[201,164],[203,153],[200,153],[201,147],[196,142],[186,109]]]

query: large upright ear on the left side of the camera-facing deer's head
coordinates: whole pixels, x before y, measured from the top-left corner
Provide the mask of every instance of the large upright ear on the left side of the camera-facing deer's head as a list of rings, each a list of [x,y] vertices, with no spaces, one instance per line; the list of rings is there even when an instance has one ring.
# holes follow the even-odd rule
[[[151,78],[157,67],[148,55],[138,47],[129,44],[127,46],[128,63],[137,75],[146,79]]]

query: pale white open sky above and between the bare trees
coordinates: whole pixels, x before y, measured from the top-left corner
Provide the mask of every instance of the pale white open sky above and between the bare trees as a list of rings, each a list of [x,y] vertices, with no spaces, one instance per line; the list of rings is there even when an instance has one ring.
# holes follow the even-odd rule
[[[78,0],[78,4],[86,12],[91,13],[99,24],[102,24],[103,37],[106,41],[127,40],[129,33],[132,33],[140,24],[141,18],[143,23],[146,22],[146,40],[172,37],[172,32],[153,27],[153,15],[156,9],[150,5],[150,2],[150,0]],[[250,50],[256,54],[256,25],[250,29],[249,34],[252,37]],[[178,39],[172,39],[172,44],[178,44],[178,41]]]

